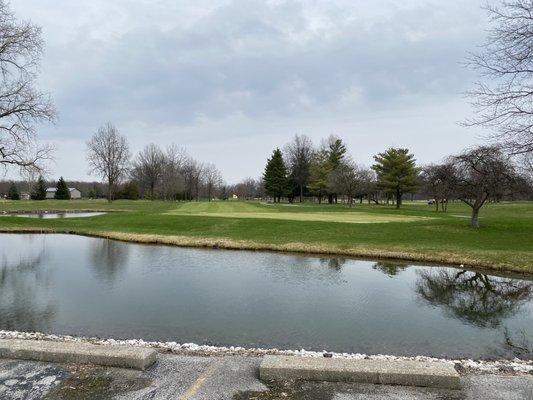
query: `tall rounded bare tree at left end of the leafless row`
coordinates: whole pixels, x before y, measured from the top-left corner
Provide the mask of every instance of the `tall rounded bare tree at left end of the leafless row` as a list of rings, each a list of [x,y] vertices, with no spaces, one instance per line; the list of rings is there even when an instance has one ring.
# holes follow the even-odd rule
[[[89,173],[107,181],[107,200],[112,201],[116,185],[125,175],[130,159],[128,141],[111,123],[98,128],[87,142]]]

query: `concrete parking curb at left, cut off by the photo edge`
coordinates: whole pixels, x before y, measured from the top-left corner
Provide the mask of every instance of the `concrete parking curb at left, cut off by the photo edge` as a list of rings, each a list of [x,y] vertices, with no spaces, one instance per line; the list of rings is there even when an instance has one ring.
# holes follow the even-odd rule
[[[142,347],[0,339],[0,358],[97,364],[145,370],[155,362],[156,354],[155,350]]]

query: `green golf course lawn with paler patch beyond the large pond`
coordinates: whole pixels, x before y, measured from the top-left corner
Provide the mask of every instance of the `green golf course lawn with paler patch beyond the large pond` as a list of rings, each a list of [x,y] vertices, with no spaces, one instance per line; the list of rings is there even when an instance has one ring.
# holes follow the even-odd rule
[[[51,230],[124,240],[382,256],[533,273],[533,203],[489,204],[481,228],[460,203],[262,204],[161,201],[0,201],[2,211],[115,211],[91,218],[0,217],[0,230]]]

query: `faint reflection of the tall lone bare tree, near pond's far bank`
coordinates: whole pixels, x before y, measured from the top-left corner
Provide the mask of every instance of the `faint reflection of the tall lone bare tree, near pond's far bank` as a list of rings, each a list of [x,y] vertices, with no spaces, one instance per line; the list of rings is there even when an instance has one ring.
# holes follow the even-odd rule
[[[112,284],[126,268],[130,247],[121,242],[95,239],[92,242],[91,266],[98,279]]]

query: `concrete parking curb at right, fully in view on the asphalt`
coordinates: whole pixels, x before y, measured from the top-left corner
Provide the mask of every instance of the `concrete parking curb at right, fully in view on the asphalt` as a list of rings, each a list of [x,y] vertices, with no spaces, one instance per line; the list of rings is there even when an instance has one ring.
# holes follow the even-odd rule
[[[449,363],[265,356],[259,367],[264,380],[382,383],[460,389],[459,374]]]

